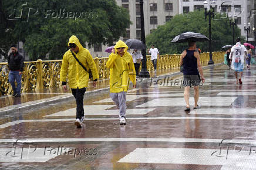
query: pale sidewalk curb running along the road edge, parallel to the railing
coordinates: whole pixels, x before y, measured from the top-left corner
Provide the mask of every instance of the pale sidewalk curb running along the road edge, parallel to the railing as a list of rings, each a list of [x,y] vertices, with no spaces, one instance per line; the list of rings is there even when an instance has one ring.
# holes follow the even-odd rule
[[[223,63],[213,64],[213,65],[209,65],[209,66],[203,66],[203,69],[207,69],[208,67],[212,67],[212,66],[218,66],[218,65],[221,65],[221,64],[223,64]],[[159,78],[159,79],[162,79],[166,76],[173,77],[173,76],[177,76],[177,75],[180,75],[180,74],[183,74],[183,73],[181,73],[181,72],[166,73],[166,74],[161,74],[160,76],[156,76],[156,77]],[[151,79],[151,78],[146,78],[146,79],[143,79],[143,80],[148,80],[148,79]],[[86,98],[88,96],[95,95],[95,94],[99,94],[99,93],[102,93],[102,92],[108,92],[109,89],[110,89],[109,87],[106,87],[104,89],[86,91],[84,98]],[[48,105],[48,104],[58,103],[58,102],[62,102],[62,101],[72,100],[72,99],[73,99],[72,94],[64,94],[64,95],[61,95],[61,96],[45,98],[45,99],[42,99],[42,100],[29,101],[29,102],[26,102],[26,103],[23,103],[23,104],[15,105],[15,106],[8,106],[8,107],[0,108],[0,115],[19,112],[19,111],[23,111],[23,110],[29,110],[31,108],[36,108],[36,107],[39,107],[39,106],[45,106],[45,105]]]

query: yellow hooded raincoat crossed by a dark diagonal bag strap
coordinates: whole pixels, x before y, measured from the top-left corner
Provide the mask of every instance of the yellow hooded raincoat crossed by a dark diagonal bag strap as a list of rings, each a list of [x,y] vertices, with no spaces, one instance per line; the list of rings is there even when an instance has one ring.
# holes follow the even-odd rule
[[[78,53],[73,52],[80,63],[86,67],[87,70],[92,70],[93,80],[99,79],[97,67],[95,65],[89,50],[85,49],[79,42],[75,35],[69,38],[69,43],[75,43],[79,47]],[[68,45],[69,45],[68,43]],[[60,69],[60,81],[66,81],[68,73],[69,87],[71,89],[82,89],[88,86],[89,73],[87,73],[82,66],[76,61],[70,50],[63,55],[62,66]]]

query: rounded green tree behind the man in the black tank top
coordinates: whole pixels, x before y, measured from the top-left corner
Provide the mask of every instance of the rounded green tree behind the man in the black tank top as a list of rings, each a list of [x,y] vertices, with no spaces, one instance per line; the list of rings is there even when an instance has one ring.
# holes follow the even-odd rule
[[[218,18],[218,19],[216,19]],[[159,49],[161,55],[165,54],[180,54],[187,48],[187,43],[170,43],[177,35],[184,32],[198,32],[209,37],[208,33],[208,17],[204,19],[204,11],[189,12],[174,16],[171,21],[165,25],[159,26],[154,32],[146,38],[147,46],[151,43]],[[240,36],[241,30],[235,28],[235,38]],[[215,16],[211,21],[211,39],[212,51],[220,51],[224,45],[232,45],[233,36],[230,23],[227,23],[225,18],[220,15]],[[198,42],[202,52],[208,52],[208,42]]]

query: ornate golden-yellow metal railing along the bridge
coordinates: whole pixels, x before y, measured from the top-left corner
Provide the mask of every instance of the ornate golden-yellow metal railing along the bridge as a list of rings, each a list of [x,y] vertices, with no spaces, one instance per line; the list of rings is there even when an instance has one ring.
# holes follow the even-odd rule
[[[214,63],[223,62],[225,52],[213,52]],[[157,59],[157,70],[167,70],[180,67],[181,55],[161,55]],[[106,67],[108,57],[95,58],[100,80],[109,79],[109,69]],[[208,63],[209,53],[201,53],[201,64]],[[62,60],[37,60],[34,62],[24,62],[22,74],[22,92],[30,90],[43,90],[45,88],[59,88],[59,74]],[[8,63],[0,63],[0,93],[11,94],[12,87],[8,82]],[[153,70],[150,56],[147,56],[147,70]]]

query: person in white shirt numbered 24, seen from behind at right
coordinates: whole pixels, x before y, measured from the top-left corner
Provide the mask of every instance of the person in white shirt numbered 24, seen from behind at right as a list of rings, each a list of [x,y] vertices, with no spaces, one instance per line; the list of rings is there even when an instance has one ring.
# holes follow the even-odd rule
[[[237,79],[240,84],[242,84],[242,71],[244,70],[244,55],[247,56],[247,51],[243,45],[240,43],[240,38],[237,38],[237,43],[231,48],[230,53],[230,63],[231,69],[235,70],[235,79]],[[239,79],[237,78],[237,73],[239,72]]]

